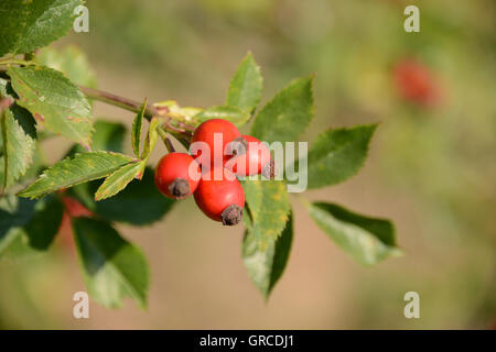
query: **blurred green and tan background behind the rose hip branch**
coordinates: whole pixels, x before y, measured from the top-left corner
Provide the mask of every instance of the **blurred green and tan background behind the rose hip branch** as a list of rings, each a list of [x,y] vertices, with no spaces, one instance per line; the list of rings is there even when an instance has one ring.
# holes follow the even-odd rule
[[[408,4],[420,8],[420,33],[403,31]],[[84,285],[75,253],[60,237],[48,255],[0,266],[1,328],[494,326],[496,2],[88,0],[87,7],[89,33],[72,33],[55,46],[83,48],[104,90],[219,105],[251,51],[265,76],[262,103],[290,79],[316,74],[316,116],[303,141],[331,127],[380,121],[362,172],[308,196],[391,218],[406,256],[363,268],[294,202],[293,251],[266,304],[240,260],[242,229],[209,221],[187,199],[152,227],[119,228],[150,262],[147,311],[130,300],[120,310],[91,304],[90,319],[74,319],[72,297]],[[395,67],[405,61],[429,72],[433,103],[401,95]],[[95,114],[128,125],[132,119],[99,103]],[[46,147],[56,161],[68,144]],[[161,153],[162,146],[153,163]],[[409,290],[420,294],[420,319],[403,317]]]

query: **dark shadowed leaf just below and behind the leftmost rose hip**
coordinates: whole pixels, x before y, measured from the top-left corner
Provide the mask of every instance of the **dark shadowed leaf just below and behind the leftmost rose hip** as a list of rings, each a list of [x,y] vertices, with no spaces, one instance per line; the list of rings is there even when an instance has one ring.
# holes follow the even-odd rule
[[[175,200],[162,196],[155,187],[153,169],[147,167],[141,180],[132,180],[116,196],[95,201],[94,194],[100,182],[78,185],[69,194],[86,208],[109,221],[125,222],[132,226],[151,224],[168,213]]]

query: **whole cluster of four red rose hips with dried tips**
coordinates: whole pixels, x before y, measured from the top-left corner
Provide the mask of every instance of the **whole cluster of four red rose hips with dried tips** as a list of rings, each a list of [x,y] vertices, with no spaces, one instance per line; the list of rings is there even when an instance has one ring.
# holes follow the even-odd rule
[[[273,177],[268,147],[256,138],[241,135],[227,120],[198,125],[190,153],[172,152],[161,158],[155,168],[157,188],[173,199],[194,194],[198,208],[225,226],[237,224],[242,217],[245,191],[237,177]]]

